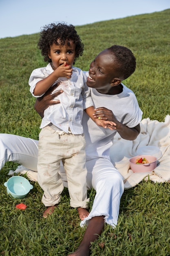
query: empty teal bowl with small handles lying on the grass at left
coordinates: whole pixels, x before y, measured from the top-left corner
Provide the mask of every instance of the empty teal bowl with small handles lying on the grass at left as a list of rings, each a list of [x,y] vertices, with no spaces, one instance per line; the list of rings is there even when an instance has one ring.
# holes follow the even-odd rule
[[[13,176],[4,183],[7,187],[7,193],[13,198],[25,198],[33,185],[22,176]]]

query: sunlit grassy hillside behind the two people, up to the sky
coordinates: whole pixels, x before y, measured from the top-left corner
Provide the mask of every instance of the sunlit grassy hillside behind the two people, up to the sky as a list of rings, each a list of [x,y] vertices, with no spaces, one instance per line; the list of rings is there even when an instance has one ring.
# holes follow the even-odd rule
[[[75,66],[88,70],[93,58],[113,44],[130,48],[137,58],[137,69],[124,83],[134,90],[144,118],[163,121],[170,106],[169,24],[170,9],[78,26],[85,49]],[[35,99],[28,85],[32,70],[46,65],[37,49],[38,37],[32,34],[0,39],[0,132],[38,138],[40,118],[33,110]]]

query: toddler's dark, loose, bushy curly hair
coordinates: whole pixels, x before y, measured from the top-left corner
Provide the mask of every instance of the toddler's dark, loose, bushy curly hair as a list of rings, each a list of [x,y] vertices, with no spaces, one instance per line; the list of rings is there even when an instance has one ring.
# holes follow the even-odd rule
[[[65,22],[57,24],[51,23],[42,27],[38,49],[41,50],[44,61],[51,62],[48,54],[50,53],[50,46],[53,45],[53,43],[56,45],[65,45],[65,43],[67,43],[69,45],[70,40],[75,44],[75,63],[76,59],[82,56],[84,50],[84,44],[77,34],[75,27],[73,25],[67,25]]]

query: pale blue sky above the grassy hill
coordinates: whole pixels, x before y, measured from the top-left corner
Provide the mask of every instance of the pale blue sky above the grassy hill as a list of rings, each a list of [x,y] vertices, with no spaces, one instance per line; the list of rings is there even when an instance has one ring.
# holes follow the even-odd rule
[[[170,8],[170,0],[0,0],[0,38],[34,34],[52,22],[85,25]]]

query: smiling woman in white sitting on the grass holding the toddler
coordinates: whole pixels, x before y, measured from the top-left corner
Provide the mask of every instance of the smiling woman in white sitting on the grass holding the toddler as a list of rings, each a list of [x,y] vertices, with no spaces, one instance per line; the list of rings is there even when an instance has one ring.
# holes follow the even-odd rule
[[[96,195],[90,214],[80,224],[81,226],[87,224],[83,240],[78,249],[71,254],[72,256],[90,254],[91,242],[102,233],[105,222],[112,227],[117,225],[124,183],[122,176],[110,161],[109,149],[116,132],[128,140],[136,139],[140,132],[142,111],[135,94],[121,83],[135,71],[135,68],[135,56],[130,49],[119,45],[113,45],[100,52],[90,65],[87,85],[97,108],[94,117],[113,121],[115,126],[113,130],[104,129],[97,126],[86,113],[83,115],[87,186],[93,187]],[[53,101],[53,98],[60,93],[59,91],[53,95],[46,94],[43,99],[35,103],[35,109],[41,117],[44,109],[50,104],[59,103]],[[10,144],[11,140],[12,144]],[[36,171],[37,145],[38,141],[16,135],[0,136],[1,167],[6,161],[13,161]],[[32,157],[34,163],[30,164],[28,159]]]

